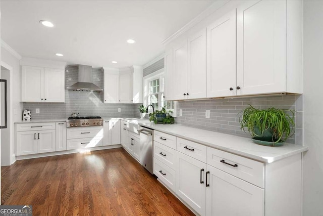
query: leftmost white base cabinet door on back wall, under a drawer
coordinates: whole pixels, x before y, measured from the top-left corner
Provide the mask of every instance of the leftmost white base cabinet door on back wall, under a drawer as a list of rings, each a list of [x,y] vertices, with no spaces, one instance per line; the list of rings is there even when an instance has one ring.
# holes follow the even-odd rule
[[[37,131],[17,132],[16,155],[37,154]]]

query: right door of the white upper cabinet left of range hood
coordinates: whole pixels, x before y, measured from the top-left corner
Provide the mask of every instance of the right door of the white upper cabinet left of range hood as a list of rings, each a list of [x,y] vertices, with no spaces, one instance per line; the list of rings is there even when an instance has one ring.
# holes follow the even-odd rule
[[[65,73],[63,69],[44,69],[44,101],[65,102]]]

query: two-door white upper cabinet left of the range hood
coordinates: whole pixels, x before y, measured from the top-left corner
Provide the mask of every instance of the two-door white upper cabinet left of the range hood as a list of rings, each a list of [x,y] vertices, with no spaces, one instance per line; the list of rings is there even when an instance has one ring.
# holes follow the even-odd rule
[[[22,66],[22,102],[65,102],[65,71]]]

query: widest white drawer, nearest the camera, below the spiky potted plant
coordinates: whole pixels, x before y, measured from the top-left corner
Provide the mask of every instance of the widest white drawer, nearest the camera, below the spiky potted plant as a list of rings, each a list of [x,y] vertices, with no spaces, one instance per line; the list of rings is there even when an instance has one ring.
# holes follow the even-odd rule
[[[207,164],[264,188],[264,163],[207,147]]]

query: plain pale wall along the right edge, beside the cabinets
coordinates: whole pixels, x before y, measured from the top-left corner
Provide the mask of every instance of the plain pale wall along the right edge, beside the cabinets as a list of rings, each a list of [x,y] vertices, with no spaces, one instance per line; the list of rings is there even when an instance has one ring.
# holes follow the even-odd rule
[[[303,216],[323,215],[323,1],[304,1]]]

